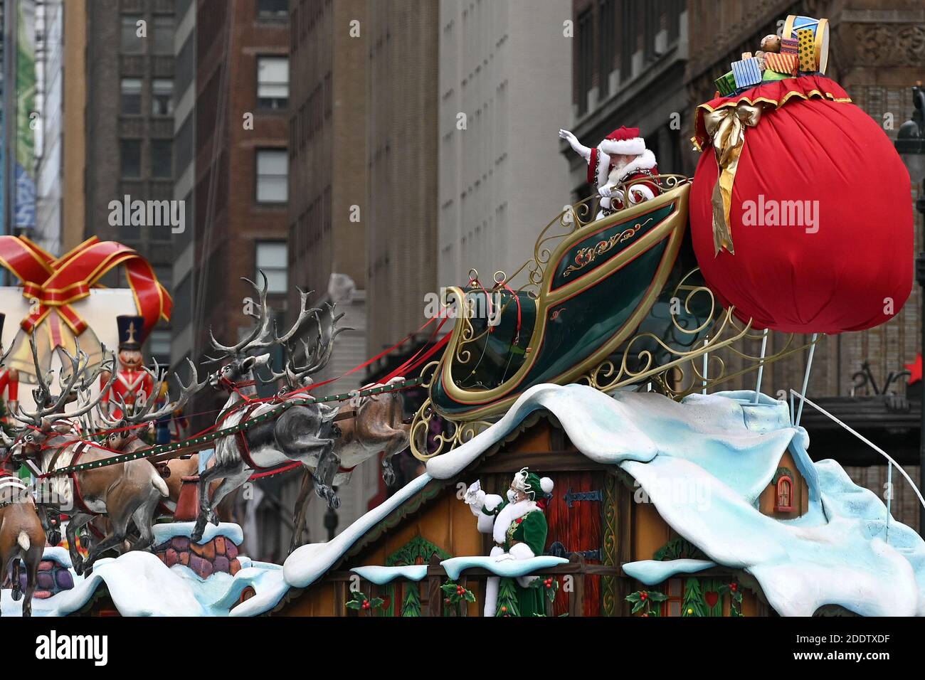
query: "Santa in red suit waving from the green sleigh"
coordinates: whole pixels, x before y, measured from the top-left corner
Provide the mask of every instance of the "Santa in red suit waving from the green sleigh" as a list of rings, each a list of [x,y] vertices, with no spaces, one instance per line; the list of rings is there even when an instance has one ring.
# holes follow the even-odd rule
[[[559,130],[559,136],[587,161],[587,181],[600,195],[598,219],[659,194],[658,184],[649,180],[659,174],[659,167],[638,128],[613,130],[594,149],[578,142],[569,130]]]

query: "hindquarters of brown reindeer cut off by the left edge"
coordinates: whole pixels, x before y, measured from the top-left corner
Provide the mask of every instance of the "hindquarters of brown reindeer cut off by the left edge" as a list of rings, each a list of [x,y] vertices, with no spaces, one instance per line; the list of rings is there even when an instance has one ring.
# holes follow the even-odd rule
[[[45,532],[30,489],[19,478],[0,472],[0,569],[4,578],[9,575],[12,580],[13,600],[19,600],[23,595],[19,574],[21,563],[25,563],[23,616],[32,615],[32,593],[44,548]]]

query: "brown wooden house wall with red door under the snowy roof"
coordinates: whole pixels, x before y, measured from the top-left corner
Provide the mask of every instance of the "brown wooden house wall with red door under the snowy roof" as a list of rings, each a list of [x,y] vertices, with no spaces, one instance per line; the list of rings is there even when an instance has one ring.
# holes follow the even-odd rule
[[[619,566],[622,563],[651,560],[666,543],[677,538],[660,516],[652,503],[640,502],[634,498],[633,481],[613,467],[598,465],[576,451],[564,436],[561,427],[553,425],[547,418],[540,418],[515,439],[504,444],[499,452],[487,456],[474,465],[459,480],[438,492],[420,510],[403,518],[394,527],[388,528],[382,536],[362,547],[354,556],[348,557],[337,569],[341,575],[354,566],[387,564],[389,556],[401,550],[414,538],[424,538],[439,550],[453,557],[462,555],[486,555],[493,545],[490,536],[480,534],[475,517],[462,502],[462,490],[475,479],[480,479],[482,488],[488,493],[504,495],[512,476],[524,466],[534,472],[549,476],[555,483],[553,498],[546,510],[549,523],[547,551],[554,544],[561,544],[566,553],[578,551],[589,555],[588,563],[604,563]],[[808,507],[808,488],[799,475],[793,457],[784,453],[780,467],[789,468],[793,474],[795,504],[798,513],[805,513]],[[599,492],[600,500],[574,500],[576,494]],[[771,484],[760,496],[761,512],[771,516],[775,488]],[[569,498],[572,498],[569,507]],[[796,516],[797,513],[793,513]],[[598,550],[596,557],[591,551]],[[702,575],[703,583],[709,587],[717,579],[728,578],[724,570],[710,570]],[[477,616],[484,601],[485,579],[467,580],[462,585],[476,592],[476,602],[469,606],[468,615]],[[567,612],[570,594],[562,587],[553,612]],[[347,581],[341,577],[337,583],[329,579],[310,587],[294,597],[281,612],[290,615],[342,616],[343,602],[349,597]],[[388,593],[401,597],[399,590],[376,588],[369,584],[373,594]],[[632,579],[622,577],[586,576],[586,616],[627,615],[630,611],[624,598],[634,589],[642,587]],[[651,589],[668,587],[661,584]],[[421,584],[420,595],[425,603],[429,597],[425,583]],[[397,593],[397,595],[396,595]],[[725,600],[723,611],[729,613],[729,601]],[[750,589],[743,589],[742,612],[745,615],[767,613],[758,596]]]

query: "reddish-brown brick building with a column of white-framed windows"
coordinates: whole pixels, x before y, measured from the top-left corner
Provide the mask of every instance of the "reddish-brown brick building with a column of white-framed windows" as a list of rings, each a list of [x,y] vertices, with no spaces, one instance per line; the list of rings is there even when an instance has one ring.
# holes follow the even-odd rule
[[[172,256],[179,365],[208,351],[208,328],[226,340],[248,328],[243,300],[253,290],[240,277],[264,270],[271,305],[285,308],[288,14],[264,0],[181,1],[175,49],[173,192],[188,216]]]

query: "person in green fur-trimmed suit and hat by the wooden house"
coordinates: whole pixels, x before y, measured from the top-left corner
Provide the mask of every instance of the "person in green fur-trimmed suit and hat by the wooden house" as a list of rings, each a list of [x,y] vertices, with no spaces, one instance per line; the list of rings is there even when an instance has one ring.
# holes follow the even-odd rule
[[[466,491],[464,501],[478,518],[478,530],[491,534],[495,547],[489,555],[496,561],[528,560],[542,555],[546,549],[546,503],[552,493],[552,480],[532,473],[524,467],[514,475],[507,501],[487,494],[476,481]],[[521,616],[545,612],[541,588],[529,587],[537,576],[517,578],[517,601]],[[488,578],[485,592],[485,616],[495,616],[498,606],[500,578]]]

